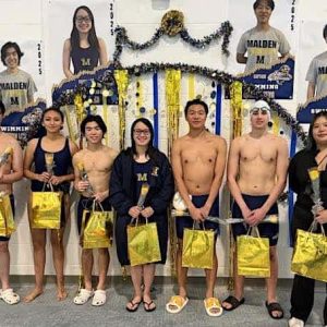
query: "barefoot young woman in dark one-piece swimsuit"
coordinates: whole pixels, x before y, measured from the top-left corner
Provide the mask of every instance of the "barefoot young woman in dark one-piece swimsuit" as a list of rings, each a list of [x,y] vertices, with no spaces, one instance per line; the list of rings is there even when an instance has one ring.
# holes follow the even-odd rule
[[[63,277],[64,252],[62,240],[65,221],[69,218],[70,211],[70,182],[74,179],[74,173],[70,171],[70,168],[72,167],[72,156],[76,153],[77,146],[60,133],[63,125],[63,114],[59,109],[46,109],[43,114],[41,123],[46,130],[46,135],[28,142],[24,158],[24,175],[32,181],[32,191],[44,191],[44,183],[50,182],[55,191],[63,192],[62,220],[59,237],[58,230],[52,229],[50,231],[53,265],[57,274],[57,299],[61,301],[66,298]],[[46,153],[53,154],[53,173],[47,171],[45,160]],[[32,166],[34,166],[33,170]],[[45,191],[50,190],[46,189]],[[31,204],[28,204],[28,220],[31,222],[29,205]],[[31,228],[31,233],[34,250],[35,288],[24,299],[25,302],[31,302],[43,293],[46,264],[47,230]]]

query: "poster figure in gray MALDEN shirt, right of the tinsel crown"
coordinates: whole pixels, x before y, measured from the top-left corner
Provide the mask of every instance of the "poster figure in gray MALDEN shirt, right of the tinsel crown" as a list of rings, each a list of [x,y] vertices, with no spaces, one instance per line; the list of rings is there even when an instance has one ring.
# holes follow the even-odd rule
[[[290,51],[290,45],[282,32],[269,25],[275,9],[274,0],[256,0],[253,9],[257,24],[241,36],[237,49],[237,61],[246,64],[246,73],[259,66],[272,65]]]

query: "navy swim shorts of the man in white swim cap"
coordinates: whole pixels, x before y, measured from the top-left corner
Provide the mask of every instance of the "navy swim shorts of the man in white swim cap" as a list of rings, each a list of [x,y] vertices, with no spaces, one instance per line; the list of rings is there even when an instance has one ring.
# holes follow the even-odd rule
[[[269,195],[246,195],[242,194],[243,199],[245,204],[247,205],[250,210],[257,209],[264,205],[264,203],[267,201]],[[278,206],[277,203],[275,203],[267,215],[278,215]],[[233,203],[232,205],[232,217],[233,218],[243,218],[242,211],[237,204],[237,202]],[[261,233],[261,237],[263,238],[268,238],[269,239],[269,245],[275,246],[278,242],[278,233],[279,233],[279,225],[278,223],[269,223],[269,222],[264,222],[259,223],[258,230]],[[232,231],[233,231],[233,237],[237,239],[239,235],[244,235],[246,234],[249,230],[249,225],[245,222],[240,222],[240,223],[233,223],[232,225]]]

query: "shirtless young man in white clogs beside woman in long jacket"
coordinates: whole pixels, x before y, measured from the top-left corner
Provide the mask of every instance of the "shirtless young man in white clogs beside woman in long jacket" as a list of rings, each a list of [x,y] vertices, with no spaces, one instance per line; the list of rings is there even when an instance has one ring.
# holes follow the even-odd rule
[[[81,192],[81,198],[77,207],[77,226],[78,232],[82,229],[82,217],[84,209],[90,209],[93,202],[100,203],[104,210],[108,211],[111,206],[108,202],[109,179],[113,159],[117,152],[102,145],[104,135],[107,126],[99,116],[88,116],[81,123],[81,133],[86,137],[86,148],[80,150],[73,157],[75,172],[75,189]],[[87,179],[81,178],[81,165],[87,173]],[[75,304],[84,304],[94,296],[92,305],[99,306],[106,303],[106,277],[109,267],[108,249],[98,249],[98,269],[99,279],[96,291],[92,288],[92,269],[93,269],[93,250],[82,250],[82,270],[84,276],[84,289],[74,298]]]

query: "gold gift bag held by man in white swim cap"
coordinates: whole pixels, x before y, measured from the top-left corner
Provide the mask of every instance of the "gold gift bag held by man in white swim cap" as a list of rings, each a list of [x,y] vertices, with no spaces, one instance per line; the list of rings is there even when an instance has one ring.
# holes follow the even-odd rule
[[[252,237],[249,228],[246,235],[238,237],[238,275],[270,277],[269,239]]]

